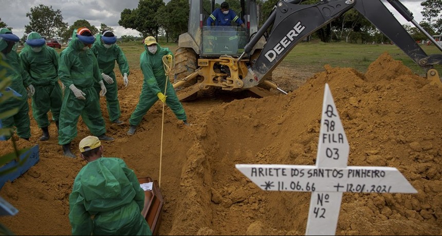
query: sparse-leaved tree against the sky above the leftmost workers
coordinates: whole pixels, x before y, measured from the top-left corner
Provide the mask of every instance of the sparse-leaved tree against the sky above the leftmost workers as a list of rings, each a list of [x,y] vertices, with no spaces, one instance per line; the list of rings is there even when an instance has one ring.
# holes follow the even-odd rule
[[[29,25],[25,26],[25,33],[38,32],[43,37],[62,36],[67,23],[63,22],[60,9],[56,11],[52,6],[48,7],[40,4],[38,7],[31,7],[31,12],[26,13],[29,17]]]

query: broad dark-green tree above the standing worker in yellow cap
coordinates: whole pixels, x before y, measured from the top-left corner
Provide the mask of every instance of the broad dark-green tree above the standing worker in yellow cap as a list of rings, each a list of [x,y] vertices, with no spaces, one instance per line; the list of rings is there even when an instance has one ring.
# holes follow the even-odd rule
[[[140,0],[138,8],[133,10],[126,8],[121,12],[118,24],[124,28],[138,30],[143,37],[152,35],[158,39],[159,25],[155,15],[164,6],[162,0]]]

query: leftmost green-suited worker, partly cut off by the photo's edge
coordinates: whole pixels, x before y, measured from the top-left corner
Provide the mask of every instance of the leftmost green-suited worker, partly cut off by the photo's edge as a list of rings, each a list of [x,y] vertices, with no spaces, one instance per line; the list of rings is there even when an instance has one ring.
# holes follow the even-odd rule
[[[3,53],[4,61],[8,65],[8,67],[0,65],[0,71],[6,71],[5,77],[9,77],[12,80],[9,87],[22,95],[21,97],[8,98],[2,103],[0,106],[0,114],[12,109],[18,109],[19,111],[14,115],[2,118],[2,125],[4,128],[13,128],[15,125],[17,135],[20,138],[29,140],[31,137],[31,123],[28,114],[28,93],[32,96],[35,89],[28,72],[23,70],[22,60],[16,52],[17,42],[19,40],[20,38],[10,30],[0,28],[0,52]],[[9,139],[11,136],[12,134],[5,135],[5,138]]]

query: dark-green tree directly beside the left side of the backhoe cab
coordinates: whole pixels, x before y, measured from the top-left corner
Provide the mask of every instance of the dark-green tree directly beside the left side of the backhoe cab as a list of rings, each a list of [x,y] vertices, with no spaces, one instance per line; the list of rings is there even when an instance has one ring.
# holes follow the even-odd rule
[[[188,30],[188,22],[183,19],[189,19],[188,0],[171,0],[155,16],[158,25],[166,32],[167,40],[170,37],[174,42],[178,41],[180,34]]]

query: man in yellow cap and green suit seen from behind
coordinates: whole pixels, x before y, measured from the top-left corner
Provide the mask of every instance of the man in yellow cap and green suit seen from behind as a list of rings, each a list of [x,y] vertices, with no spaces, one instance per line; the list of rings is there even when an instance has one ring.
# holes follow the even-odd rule
[[[72,235],[152,235],[143,218],[144,191],[120,158],[102,157],[95,136],[80,141],[81,168],[69,195]]]

